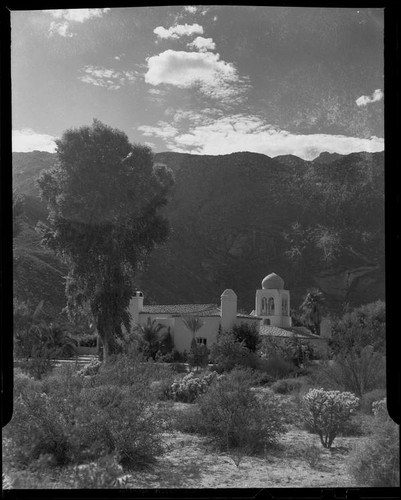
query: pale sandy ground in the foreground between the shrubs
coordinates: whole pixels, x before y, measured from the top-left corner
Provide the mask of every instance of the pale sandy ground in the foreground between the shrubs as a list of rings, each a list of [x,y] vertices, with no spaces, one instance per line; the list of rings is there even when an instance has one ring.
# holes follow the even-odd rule
[[[224,453],[213,452],[207,438],[174,432],[165,435],[168,452],[149,472],[132,475],[130,488],[344,488],[357,487],[346,470],[346,458],[360,438],[337,438],[323,449],[317,436],[293,429],[264,457],[243,457],[239,467]],[[320,463],[303,458],[306,446],[321,448]]]

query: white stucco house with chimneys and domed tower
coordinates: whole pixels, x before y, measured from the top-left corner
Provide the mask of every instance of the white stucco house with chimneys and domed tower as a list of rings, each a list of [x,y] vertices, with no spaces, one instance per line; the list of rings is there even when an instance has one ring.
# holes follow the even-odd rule
[[[141,325],[150,318],[170,327],[174,348],[179,352],[190,349],[192,335],[183,321],[188,315],[199,316],[203,321],[202,328],[196,332],[196,341],[208,347],[216,341],[220,327],[222,331],[229,331],[241,323],[255,325],[261,335],[321,340],[307,328],[292,327],[290,292],[284,289],[283,279],[275,273],[262,280],[262,288],[256,290],[255,309],[250,314],[238,313],[237,295],[231,289],[221,294],[220,304],[146,305],[143,293],[136,291],[129,312],[132,324]]]

